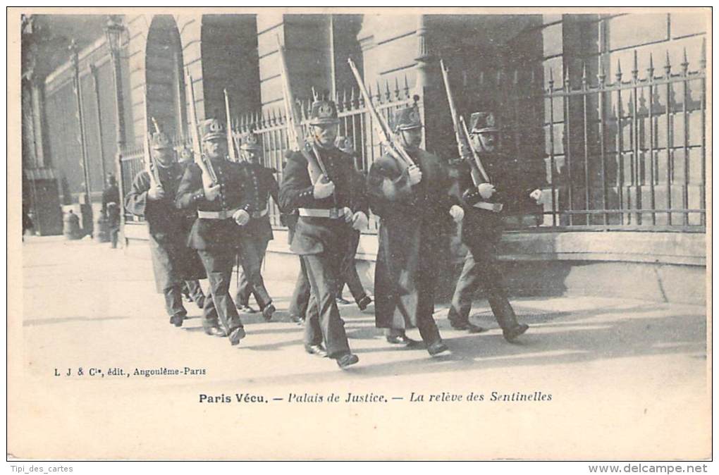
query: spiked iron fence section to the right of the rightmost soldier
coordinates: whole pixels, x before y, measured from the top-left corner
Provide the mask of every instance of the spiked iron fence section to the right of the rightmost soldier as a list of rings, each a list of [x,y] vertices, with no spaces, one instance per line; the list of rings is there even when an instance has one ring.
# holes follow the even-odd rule
[[[667,52],[657,75],[649,55],[640,75],[634,51],[631,75],[617,59],[610,82],[609,60],[600,55],[559,78],[551,69],[544,78],[532,70],[509,80],[480,75],[480,88],[495,86],[504,104],[505,148],[544,161],[539,227],[703,232],[705,61],[690,71],[684,50],[673,73]]]

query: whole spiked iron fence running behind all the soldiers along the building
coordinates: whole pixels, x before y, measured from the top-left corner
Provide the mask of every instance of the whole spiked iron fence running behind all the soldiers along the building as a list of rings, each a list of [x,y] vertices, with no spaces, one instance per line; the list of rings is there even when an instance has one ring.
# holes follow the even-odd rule
[[[702,51],[702,58],[705,57]],[[700,231],[706,224],[706,64],[690,71],[686,51],[679,72],[672,73],[667,53],[663,75],[649,57],[640,77],[636,52],[631,75],[617,60],[608,82],[610,56],[578,71],[542,73],[529,68],[492,78],[479,74],[478,95],[492,94],[499,106],[503,148],[539,164],[544,174],[543,211],[513,216],[523,229],[618,229]],[[590,75],[590,70],[594,73]],[[370,87],[372,103],[389,119],[394,109],[424,99],[411,96],[407,80]],[[356,151],[356,165],[366,171],[382,153],[367,104],[357,91],[337,93],[339,134]],[[298,103],[308,133],[311,101]],[[277,170],[281,183],[288,150],[284,109],[267,109],[234,119],[238,136],[253,130],[262,137],[263,160]],[[447,131],[447,134],[452,134]],[[182,140],[175,141],[180,147]],[[123,179],[129,189],[142,170],[142,149],[127,150]],[[272,203],[270,216],[281,226]],[[129,220],[138,221],[132,216]],[[375,232],[370,217],[367,232]]]

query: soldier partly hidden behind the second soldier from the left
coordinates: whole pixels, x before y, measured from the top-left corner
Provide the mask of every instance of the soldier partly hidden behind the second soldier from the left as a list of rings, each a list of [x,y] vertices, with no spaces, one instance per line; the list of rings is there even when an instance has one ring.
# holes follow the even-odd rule
[[[252,200],[252,211],[249,222],[242,226],[241,247],[239,255],[242,259],[242,272],[239,273],[237,282],[237,295],[235,304],[240,311],[253,313],[254,309],[249,307],[249,295],[255,295],[257,304],[260,305],[262,316],[265,320],[272,319],[275,312],[275,305],[272,303],[265,282],[262,280],[262,260],[265,259],[267,243],[273,239],[272,224],[270,224],[269,199],[272,196],[275,203],[278,203],[280,190],[273,173],[275,170],[260,164],[262,145],[257,134],[248,132],[242,134],[240,154],[242,161],[240,165],[246,175],[246,193],[249,193]],[[249,276],[249,278],[248,278]]]

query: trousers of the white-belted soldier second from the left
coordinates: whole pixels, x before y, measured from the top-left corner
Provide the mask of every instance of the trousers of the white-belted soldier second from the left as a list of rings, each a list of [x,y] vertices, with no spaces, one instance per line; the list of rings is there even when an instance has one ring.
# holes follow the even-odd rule
[[[202,309],[205,327],[217,326],[217,320],[224,331],[229,334],[232,330],[242,327],[242,321],[234,308],[234,302],[229,295],[229,281],[232,278],[232,264],[234,264],[237,249],[234,247],[222,249],[201,249],[197,252],[210,281],[210,297],[205,301]]]

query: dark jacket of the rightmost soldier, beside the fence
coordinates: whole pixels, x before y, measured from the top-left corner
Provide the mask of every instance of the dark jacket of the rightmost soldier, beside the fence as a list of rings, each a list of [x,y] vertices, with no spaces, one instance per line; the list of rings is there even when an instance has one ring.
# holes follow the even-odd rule
[[[512,159],[500,153],[482,155],[481,160],[496,190],[489,201],[502,203],[503,209],[500,213],[495,213],[467,206],[465,203],[462,222],[462,242],[465,244],[476,239],[497,241],[504,228],[503,216],[538,211],[536,202],[529,197],[529,193],[541,188],[543,183],[543,170],[536,166],[536,162]],[[472,182],[470,166],[468,162],[459,162],[456,165],[459,191],[464,196],[477,190]],[[485,201],[482,198],[479,200]]]

